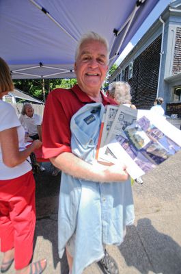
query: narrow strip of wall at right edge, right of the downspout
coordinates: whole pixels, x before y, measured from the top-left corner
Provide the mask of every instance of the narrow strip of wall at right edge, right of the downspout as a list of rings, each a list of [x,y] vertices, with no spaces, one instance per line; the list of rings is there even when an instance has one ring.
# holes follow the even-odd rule
[[[173,54],[172,74],[175,75],[181,72],[181,28],[177,27],[176,43]]]

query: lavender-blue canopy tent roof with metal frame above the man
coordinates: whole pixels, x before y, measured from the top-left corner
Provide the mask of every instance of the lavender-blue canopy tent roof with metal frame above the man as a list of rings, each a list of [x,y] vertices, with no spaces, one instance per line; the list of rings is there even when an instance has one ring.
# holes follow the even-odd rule
[[[1,57],[14,79],[71,78],[77,41],[91,30],[107,38],[111,66],[158,1],[0,1]]]

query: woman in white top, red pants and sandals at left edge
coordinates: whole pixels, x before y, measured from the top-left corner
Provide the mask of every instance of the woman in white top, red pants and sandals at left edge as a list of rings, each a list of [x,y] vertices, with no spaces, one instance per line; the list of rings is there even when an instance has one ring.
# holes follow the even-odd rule
[[[29,264],[33,255],[36,223],[35,182],[29,154],[42,142],[25,149],[25,130],[10,103],[2,101],[14,86],[8,64],[0,58],[0,239],[3,261],[1,273],[40,274],[46,260]]]

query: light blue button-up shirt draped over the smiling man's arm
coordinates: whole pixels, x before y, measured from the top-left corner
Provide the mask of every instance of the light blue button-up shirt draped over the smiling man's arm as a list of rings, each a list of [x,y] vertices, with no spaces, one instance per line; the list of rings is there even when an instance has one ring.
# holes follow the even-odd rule
[[[72,116],[72,153],[92,164],[105,107],[89,103]],[[59,256],[75,234],[72,274],[104,256],[103,245],[120,245],[126,225],[135,219],[130,179],[96,183],[61,174],[59,195]]]

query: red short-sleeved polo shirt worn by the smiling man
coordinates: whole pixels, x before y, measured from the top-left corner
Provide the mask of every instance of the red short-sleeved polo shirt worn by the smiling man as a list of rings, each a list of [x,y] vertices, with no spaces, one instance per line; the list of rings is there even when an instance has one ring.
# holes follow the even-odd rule
[[[103,105],[115,105],[113,99],[102,92]],[[70,120],[86,103],[95,103],[78,85],[71,89],[56,88],[48,95],[42,123],[44,158],[52,158],[63,152],[71,152]]]

